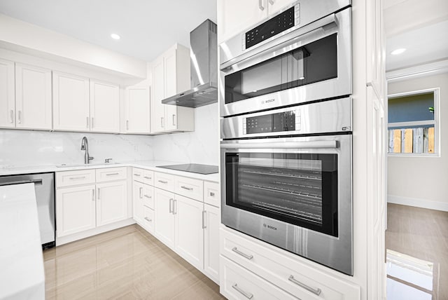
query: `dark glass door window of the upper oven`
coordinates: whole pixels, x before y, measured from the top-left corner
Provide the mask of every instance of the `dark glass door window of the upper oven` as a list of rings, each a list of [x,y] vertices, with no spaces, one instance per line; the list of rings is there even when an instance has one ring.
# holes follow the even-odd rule
[[[337,77],[337,34],[225,75],[225,104]]]

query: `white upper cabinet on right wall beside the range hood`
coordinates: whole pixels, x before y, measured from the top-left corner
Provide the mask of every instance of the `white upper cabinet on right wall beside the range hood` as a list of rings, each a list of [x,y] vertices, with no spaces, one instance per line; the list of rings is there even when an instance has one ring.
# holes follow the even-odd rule
[[[179,44],[153,62],[151,132],[193,131],[195,111],[162,104],[162,100],[190,89],[190,50]]]

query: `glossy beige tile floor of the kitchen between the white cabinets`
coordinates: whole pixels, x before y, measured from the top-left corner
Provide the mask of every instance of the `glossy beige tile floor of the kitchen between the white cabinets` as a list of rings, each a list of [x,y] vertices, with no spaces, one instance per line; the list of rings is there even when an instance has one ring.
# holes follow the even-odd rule
[[[45,250],[46,299],[225,299],[138,225]]]

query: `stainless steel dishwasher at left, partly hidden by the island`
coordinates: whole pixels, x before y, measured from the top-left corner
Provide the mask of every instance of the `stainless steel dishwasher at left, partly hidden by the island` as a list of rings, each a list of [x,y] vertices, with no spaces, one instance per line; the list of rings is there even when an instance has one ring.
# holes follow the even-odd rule
[[[0,186],[34,183],[43,248],[55,246],[55,173],[0,177]]]

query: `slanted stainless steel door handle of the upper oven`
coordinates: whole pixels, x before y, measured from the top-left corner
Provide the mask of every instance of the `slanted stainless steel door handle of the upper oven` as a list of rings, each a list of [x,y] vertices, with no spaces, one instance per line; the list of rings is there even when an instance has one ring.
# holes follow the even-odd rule
[[[272,46],[270,43],[266,43],[265,45],[262,45],[258,48],[253,49],[252,51],[248,51],[244,54],[241,54],[238,57],[235,57],[232,60],[228,60],[228,62],[221,64],[221,70],[228,71],[232,69],[233,64],[237,64],[238,62],[248,59],[249,57],[253,57],[253,55],[257,56],[272,55],[272,53],[276,50],[281,50],[286,46],[289,46],[290,44],[297,43],[297,37],[303,36],[304,34],[309,34],[310,32],[314,32],[317,29],[321,29],[322,27],[330,25],[335,22],[336,22],[336,15],[334,13],[332,13],[331,15],[327,15],[325,18],[321,18],[316,22],[312,22],[309,25],[306,25],[302,28],[295,30],[295,37],[293,37],[289,41],[286,41],[286,43],[278,43],[275,46]]]

